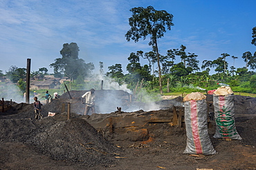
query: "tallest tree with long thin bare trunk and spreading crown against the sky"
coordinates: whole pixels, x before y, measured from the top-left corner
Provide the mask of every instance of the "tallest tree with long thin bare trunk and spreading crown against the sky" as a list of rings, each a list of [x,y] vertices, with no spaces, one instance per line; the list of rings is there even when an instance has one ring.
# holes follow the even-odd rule
[[[166,29],[171,30],[171,26],[174,25],[172,23],[173,15],[165,10],[155,10],[152,6],[132,8],[130,11],[132,12],[132,17],[129,18],[131,28],[125,34],[126,39],[127,41],[132,39],[134,42],[138,42],[140,38],[143,37],[145,40],[147,36],[150,36],[149,45],[156,47],[159,88],[160,93],[163,94],[157,39],[163,36]]]

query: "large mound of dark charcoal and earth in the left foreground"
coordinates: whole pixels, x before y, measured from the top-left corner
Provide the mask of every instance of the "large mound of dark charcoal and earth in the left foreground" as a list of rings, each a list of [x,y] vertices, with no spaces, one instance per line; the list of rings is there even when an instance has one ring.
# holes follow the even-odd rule
[[[54,160],[80,162],[85,167],[108,166],[118,152],[80,115],[71,114],[66,120],[66,112],[54,117],[44,113],[45,118],[35,120],[33,104],[14,103],[13,108],[16,114],[0,116],[1,142],[22,142]]]

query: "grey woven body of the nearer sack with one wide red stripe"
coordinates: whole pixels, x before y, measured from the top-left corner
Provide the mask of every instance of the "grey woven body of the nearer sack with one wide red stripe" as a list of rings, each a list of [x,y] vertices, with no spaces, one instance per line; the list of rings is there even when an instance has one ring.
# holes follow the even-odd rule
[[[206,100],[189,100],[185,106],[187,146],[183,153],[212,155],[216,151],[208,134],[208,112]]]

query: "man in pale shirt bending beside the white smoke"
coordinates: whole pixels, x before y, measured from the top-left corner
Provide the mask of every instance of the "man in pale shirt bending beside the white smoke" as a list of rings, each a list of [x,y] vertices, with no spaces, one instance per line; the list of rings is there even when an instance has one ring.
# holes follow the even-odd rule
[[[91,109],[92,113],[95,113],[95,89],[90,89],[89,92],[86,92],[82,95],[82,100],[85,99],[85,109],[84,115],[89,115],[89,110]]]

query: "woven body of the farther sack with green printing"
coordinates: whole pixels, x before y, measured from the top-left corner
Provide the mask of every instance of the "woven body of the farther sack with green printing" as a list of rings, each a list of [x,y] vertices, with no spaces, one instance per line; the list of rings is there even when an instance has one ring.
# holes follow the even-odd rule
[[[218,96],[213,94],[214,118],[216,131],[214,138],[241,140],[235,127],[234,94]]]

